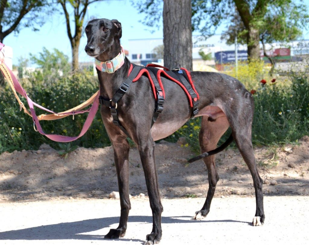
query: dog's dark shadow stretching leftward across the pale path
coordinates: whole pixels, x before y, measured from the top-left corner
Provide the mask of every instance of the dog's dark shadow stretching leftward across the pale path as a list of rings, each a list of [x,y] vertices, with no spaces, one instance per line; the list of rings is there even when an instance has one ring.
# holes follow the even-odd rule
[[[59,239],[78,239],[78,240],[103,240],[104,235],[87,235],[91,231],[97,231],[112,224],[118,223],[119,217],[95,218],[82,221],[59,223],[53,225],[43,225],[13,231],[0,232],[0,240],[59,240]],[[18,221],[16,221],[18,222]],[[151,216],[129,216],[130,222],[152,223]],[[189,216],[162,217],[162,223],[196,223],[196,222],[237,222],[248,223],[236,220],[193,220]],[[130,225],[128,223],[128,226]],[[250,223],[248,223],[250,224]],[[145,231],[146,232],[146,231]],[[146,233],[145,233],[146,234]],[[139,239],[121,238],[119,241],[143,242]]]

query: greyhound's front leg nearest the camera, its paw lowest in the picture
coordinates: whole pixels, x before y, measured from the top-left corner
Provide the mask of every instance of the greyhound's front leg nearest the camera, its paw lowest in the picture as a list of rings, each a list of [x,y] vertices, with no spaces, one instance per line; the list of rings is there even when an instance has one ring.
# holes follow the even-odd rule
[[[153,218],[152,231],[146,236],[145,244],[155,244],[160,242],[162,236],[161,213],[163,211],[163,206],[160,200],[158,178],[155,169],[155,142],[150,135],[149,137],[144,137],[138,142],[138,150],[144,169]]]

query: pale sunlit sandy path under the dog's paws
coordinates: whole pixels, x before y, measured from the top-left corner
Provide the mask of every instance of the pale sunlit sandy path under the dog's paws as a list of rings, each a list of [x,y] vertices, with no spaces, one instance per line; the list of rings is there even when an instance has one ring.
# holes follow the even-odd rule
[[[214,198],[205,220],[191,219],[203,198],[163,199],[160,244],[306,244],[309,197],[266,196],[265,225],[252,227],[254,197]],[[119,200],[0,203],[0,244],[142,244],[151,231],[147,198],[133,199],[128,230],[105,240],[119,221]]]

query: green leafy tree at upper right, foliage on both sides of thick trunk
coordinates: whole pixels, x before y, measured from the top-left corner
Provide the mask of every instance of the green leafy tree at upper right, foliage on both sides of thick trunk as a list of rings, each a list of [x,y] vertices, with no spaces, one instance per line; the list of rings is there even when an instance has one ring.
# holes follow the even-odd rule
[[[309,16],[308,8],[303,2],[303,0],[298,2],[292,0],[192,0],[192,29],[200,31],[207,38],[214,35],[222,22],[227,22],[227,30],[234,31],[234,37],[235,35],[242,37],[239,38],[239,42],[247,44],[249,59],[259,59],[262,38],[265,43],[280,39],[287,40],[293,36],[297,37],[299,27],[306,27]],[[149,27],[156,26],[155,23],[161,18],[161,4],[162,0],[143,0],[136,4],[140,13],[146,14],[144,24]],[[273,34],[274,32],[276,34]]]

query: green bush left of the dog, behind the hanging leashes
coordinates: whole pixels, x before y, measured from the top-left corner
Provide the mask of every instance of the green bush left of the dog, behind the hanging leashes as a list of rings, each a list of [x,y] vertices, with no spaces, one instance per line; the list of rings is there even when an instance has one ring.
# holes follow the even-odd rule
[[[65,111],[83,103],[98,90],[97,78],[77,73],[69,77],[55,80],[53,84],[30,80],[22,84],[28,96],[36,103],[55,112]],[[49,144],[59,149],[57,142],[35,132],[32,118],[19,111],[11,89],[0,90],[0,152],[15,149],[38,149],[43,144]],[[25,99],[22,99],[27,104]],[[45,113],[36,109],[36,114]],[[66,136],[77,136],[81,131],[88,113],[75,115],[60,120],[40,121],[45,133],[56,133]],[[97,113],[90,129],[85,135],[73,142],[84,147],[104,147],[110,145],[100,113]]]

